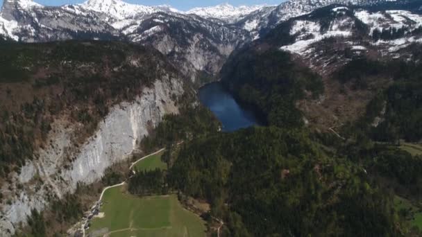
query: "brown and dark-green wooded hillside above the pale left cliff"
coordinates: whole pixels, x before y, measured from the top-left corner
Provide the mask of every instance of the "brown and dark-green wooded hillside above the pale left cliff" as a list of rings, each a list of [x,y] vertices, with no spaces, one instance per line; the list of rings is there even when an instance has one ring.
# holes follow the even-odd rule
[[[160,53],[119,42],[0,43],[0,175],[45,146],[51,123],[82,123],[89,137],[110,106],[158,78],[178,76]]]

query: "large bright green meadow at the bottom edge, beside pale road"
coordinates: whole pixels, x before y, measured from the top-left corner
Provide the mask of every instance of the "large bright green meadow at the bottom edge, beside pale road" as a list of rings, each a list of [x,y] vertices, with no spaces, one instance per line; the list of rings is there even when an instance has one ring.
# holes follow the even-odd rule
[[[205,236],[205,222],[183,209],[176,195],[138,198],[125,188],[105,191],[104,216],[92,220],[90,234],[103,230],[100,236]]]

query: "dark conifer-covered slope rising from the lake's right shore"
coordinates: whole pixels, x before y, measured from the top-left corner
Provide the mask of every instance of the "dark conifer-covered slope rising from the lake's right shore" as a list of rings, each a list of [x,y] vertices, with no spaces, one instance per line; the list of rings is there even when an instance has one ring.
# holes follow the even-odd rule
[[[293,62],[278,50],[241,51],[223,67],[223,85],[238,100],[253,107],[269,125],[301,127],[296,101],[314,99],[324,91],[321,76]]]

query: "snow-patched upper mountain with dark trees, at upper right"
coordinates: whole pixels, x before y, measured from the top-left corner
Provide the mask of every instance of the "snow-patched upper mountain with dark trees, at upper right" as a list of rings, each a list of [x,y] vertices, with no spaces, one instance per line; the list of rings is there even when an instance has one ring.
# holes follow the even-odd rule
[[[422,15],[403,9],[328,6],[285,21],[271,37],[285,39],[278,44],[280,50],[326,75],[363,55],[412,60],[410,47],[422,44]]]

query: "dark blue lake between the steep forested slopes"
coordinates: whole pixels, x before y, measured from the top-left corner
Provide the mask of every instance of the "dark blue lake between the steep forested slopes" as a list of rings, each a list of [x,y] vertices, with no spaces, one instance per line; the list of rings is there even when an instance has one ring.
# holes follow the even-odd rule
[[[219,82],[201,87],[199,100],[221,121],[224,132],[233,132],[259,124],[253,112],[242,108]]]

